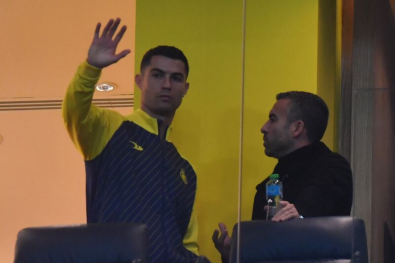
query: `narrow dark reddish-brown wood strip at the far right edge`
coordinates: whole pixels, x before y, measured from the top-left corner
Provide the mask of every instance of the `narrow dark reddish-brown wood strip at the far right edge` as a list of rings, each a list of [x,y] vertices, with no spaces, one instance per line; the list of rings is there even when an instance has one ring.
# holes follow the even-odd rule
[[[394,263],[395,20],[388,0],[376,0],[375,9],[371,258]]]

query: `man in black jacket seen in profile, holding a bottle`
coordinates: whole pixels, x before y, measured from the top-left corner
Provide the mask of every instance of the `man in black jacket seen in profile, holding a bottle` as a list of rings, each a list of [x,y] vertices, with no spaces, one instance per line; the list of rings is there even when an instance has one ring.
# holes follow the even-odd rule
[[[292,218],[350,215],[353,178],[350,164],[320,142],[328,123],[328,108],[315,94],[279,93],[262,126],[265,154],[278,159],[273,173],[283,184],[283,201],[272,221]],[[252,220],[266,218],[266,183],[256,189]],[[230,237],[223,223],[213,234],[223,261],[229,257]]]

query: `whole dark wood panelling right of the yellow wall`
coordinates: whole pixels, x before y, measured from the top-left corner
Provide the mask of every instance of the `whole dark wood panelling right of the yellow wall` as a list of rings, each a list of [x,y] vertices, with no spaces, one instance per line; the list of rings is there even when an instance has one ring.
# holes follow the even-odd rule
[[[395,262],[395,22],[389,0],[343,0],[340,152],[372,263]],[[394,182],[394,183],[393,183]],[[388,251],[387,251],[388,252]]]

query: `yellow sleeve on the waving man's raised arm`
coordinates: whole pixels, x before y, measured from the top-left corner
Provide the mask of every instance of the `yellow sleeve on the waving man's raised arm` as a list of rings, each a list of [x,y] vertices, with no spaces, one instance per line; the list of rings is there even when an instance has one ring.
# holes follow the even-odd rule
[[[85,160],[99,155],[123,121],[118,112],[92,104],[100,74],[101,69],[84,61],[70,82],[62,104],[67,131]]]

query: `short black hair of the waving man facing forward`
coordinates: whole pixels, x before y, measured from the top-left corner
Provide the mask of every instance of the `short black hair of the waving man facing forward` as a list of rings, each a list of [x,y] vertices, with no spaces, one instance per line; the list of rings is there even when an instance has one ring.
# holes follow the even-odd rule
[[[144,54],[143,59],[141,60],[141,64],[140,64],[140,72],[143,72],[144,68],[150,65],[151,58],[153,56],[164,56],[164,57],[171,58],[171,59],[181,60],[182,62],[184,62],[185,73],[187,74],[186,76],[188,76],[189,65],[188,65],[187,57],[177,47],[165,46],[165,45],[151,48]]]

